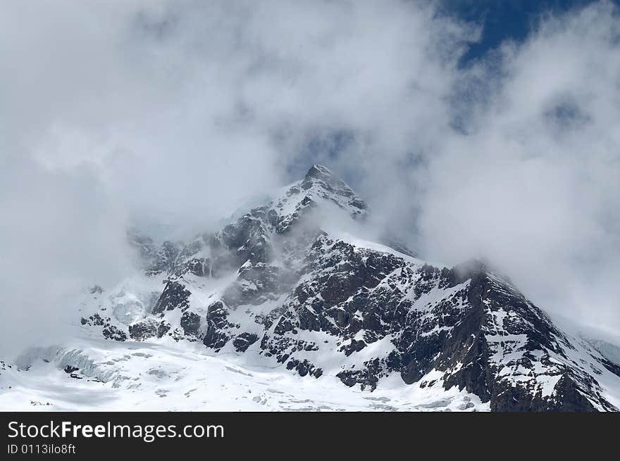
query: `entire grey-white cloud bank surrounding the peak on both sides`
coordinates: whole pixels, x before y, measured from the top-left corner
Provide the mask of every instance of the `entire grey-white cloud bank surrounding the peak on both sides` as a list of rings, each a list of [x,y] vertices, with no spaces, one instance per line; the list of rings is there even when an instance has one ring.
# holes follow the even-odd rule
[[[480,26],[433,2],[1,9],[7,331],[54,336],[63,293],[122,277],[129,225],[209,229],[315,162],[430,260],[485,255],[543,307],[620,330],[611,4],[467,68]]]

